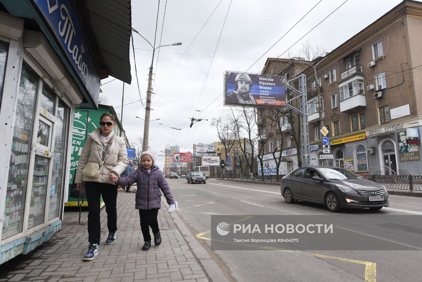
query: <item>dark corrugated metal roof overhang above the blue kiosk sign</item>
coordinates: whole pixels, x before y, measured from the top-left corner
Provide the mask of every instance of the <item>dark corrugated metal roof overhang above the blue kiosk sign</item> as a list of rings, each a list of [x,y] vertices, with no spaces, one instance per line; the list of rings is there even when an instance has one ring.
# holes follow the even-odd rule
[[[109,75],[130,84],[130,0],[86,0],[85,8]]]

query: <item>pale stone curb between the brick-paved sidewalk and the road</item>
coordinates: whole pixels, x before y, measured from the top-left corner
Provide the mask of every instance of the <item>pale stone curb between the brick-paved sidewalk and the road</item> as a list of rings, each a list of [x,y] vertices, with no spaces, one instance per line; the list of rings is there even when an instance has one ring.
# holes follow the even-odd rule
[[[164,203],[164,206],[166,207],[166,209],[168,209],[169,205],[167,204],[167,202],[163,201],[162,199],[161,202]],[[229,282],[229,280],[224,277],[223,272],[221,271],[219,266],[217,266],[214,260],[211,259],[210,255],[208,255],[208,252],[201,246],[201,244],[199,244],[198,241],[196,241],[195,236],[192,235],[192,233],[180,219],[179,215],[177,215],[176,212],[170,212],[170,216],[173,218],[174,223],[182,233],[182,236],[187,242],[187,245],[190,249],[192,249],[192,252],[194,253],[197,260],[199,260],[199,262],[201,263],[202,267],[204,268],[204,271],[211,279],[211,281]]]

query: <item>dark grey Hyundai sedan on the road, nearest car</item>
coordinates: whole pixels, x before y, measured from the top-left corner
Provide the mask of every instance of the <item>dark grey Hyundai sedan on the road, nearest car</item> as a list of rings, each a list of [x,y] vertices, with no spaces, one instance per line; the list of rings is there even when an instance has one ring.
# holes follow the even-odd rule
[[[295,200],[321,203],[330,212],[339,212],[341,208],[378,210],[390,204],[384,185],[333,166],[292,171],[281,179],[281,195],[286,203]]]

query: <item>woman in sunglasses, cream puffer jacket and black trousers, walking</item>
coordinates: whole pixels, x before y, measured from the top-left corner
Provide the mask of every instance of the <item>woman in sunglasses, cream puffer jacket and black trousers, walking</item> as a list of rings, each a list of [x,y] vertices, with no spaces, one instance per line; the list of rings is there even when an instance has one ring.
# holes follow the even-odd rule
[[[84,260],[93,260],[98,254],[100,244],[100,195],[106,204],[108,237],[106,244],[114,244],[117,231],[117,185],[127,166],[127,150],[124,140],[114,135],[116,125],[112,114],[103,114],[100,117],[100,128],[88,134],[87,142],[81,152],[75,182],[77,189],[85,193],[88,201],[88,252]],[[103,163],[103,164],[102,164]],[[89,168],[99,167],[97,170]],[[84,169],[85,168],[85,169]],[[94,171],[94,173],[93,173]],[[95,175],[95,173],[97,175]],[[99,174],[99,176],[98,176]]]

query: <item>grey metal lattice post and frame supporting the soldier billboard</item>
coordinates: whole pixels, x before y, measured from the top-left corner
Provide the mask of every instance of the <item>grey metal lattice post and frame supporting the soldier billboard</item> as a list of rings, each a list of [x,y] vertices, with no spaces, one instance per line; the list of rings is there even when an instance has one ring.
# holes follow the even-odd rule
[[[290,82],[298,80],[299,81],[299,89],[292,87]],[[297,94],[296,97],[287,100],[287,93],[286,93],[286,106],[287,108],[291,108],[293,111],[297,112],[300,115],[300,132],[301,134],[301,152],[302,152],[302,164],[303,166],[309,165],[309,129],[308,129],[308,94],[306,90],[306,75],[303,73],[299,76],[296,76],[289,81],[286,81],[285,84],[286,88]],[[292,105],[292,101],[299,99],[300,109],[298,110]]]

